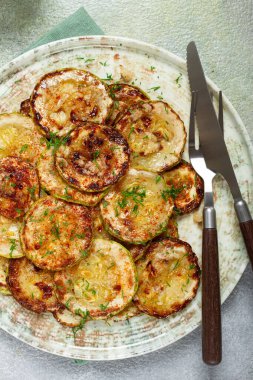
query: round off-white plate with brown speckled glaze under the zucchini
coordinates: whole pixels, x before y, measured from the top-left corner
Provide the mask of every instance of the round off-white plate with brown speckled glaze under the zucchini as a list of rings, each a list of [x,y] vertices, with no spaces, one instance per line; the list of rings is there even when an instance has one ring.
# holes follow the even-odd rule
[[[105,63],[105,65],[101,63]],[[136,40],[109,36],[75,37],[43,45],[7,64],[0,72],[0,113],[19,110],[36,81],[45,73],[64,67],[83,68],[101,78],[133,83],[151,99],[163,98],[189,125],[190,90],[186,64],[164,49]],[[208,81],[217,103],[217,86]],[[225,140],[243,197],[250,204],[253,189],[253,151],[247,131],[224,96]],[[188,160],[187,147],[184,158]],[[248,262],[226,182],[214,183],[220,252],[222,302],[239,281]],[[251,210],[252,211],[252,210]],[[201,225],[194,214],[178,219],[179,235],[193,247],[201,264]],[[128,321],[90,321],[74,339],[49,313],[37,315],[13,298],[0,295],[1,327],[33,347],[53,354],[112,360],[142,355],[172,344],[194,330],[201,320],[201,289],[181,312],[165,320],[135,316]]]

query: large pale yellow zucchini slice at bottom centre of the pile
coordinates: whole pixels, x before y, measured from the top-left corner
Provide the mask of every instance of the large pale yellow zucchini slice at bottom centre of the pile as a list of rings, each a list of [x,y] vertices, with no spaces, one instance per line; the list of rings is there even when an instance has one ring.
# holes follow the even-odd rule
[[[94,239],[78,265],[55,273],[60,302],[72,313],[107,318],[123,310],[137,289],[136,268],[120,244]]]

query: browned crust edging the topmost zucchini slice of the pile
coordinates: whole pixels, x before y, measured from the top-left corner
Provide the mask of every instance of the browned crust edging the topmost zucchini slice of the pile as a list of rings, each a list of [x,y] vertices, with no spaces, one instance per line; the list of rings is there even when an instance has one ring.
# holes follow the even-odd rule
[[[48,122],[46,122],[46,123],[43,122],[43,115],[41,114],[41,112],[38,112],[38,110],[37,110],[36,100],[41,96],[41,94],[40,94],[41,89],[44,89],[43,84],[46,83],[48,79],[53,78],[53,77],[57,77],[57,76],[61,76],[64,73],[71,72],[71,71],[78,73],[78,75],[80,75],[80,76],[83,75],[84,79],[85,79],[86,75],[89,77],[92,77],[94,79],[94,85],[95,86],[103,84],[104,90],[107,91],[107,85],[102,83],[102,81],[96,75],[92,74],[89,71],[85,71],[85,70],[81,70],[81,69],[75,69],[75,68],[65,68],[62,70],[56,70],[56,71],[45,74],[42,78],[40,78],[40,80],[36,84],[36,86],[33,90],[33,93],[31,95],[30,104],[31,104],[31,108],[32,108],[32,114],[33,114],[34,121],[40,126],[40,128],[44,131],[44,133],[47,137],[50,137],[50,132],[52,132],[51,127],[55,123],[53,123],[51,121],[51,125],[50,125],[50,123],[48,123]],[[109,95],[108,95],[108,99],[110,99]],[[111,109],[113,103],[111,103],[111,105],[108,106],[105,117],[103,118],[103,120],[100,120],[100,121],[97,120],[97,115],[100,113],[101,110],[99,109],[99,107],[96,104],[94,105],[94,108],[91,110],[91,112],[89,113],[88,116],[86,115],[85,117],[81,117],[81,115],[77,115],[76,112],[77,113],[81,112],[81,108],[84,107],[84,105],[85,105],[85,101],[83,99],[80,99],[77,97],[76,98],[76,104],[73,105],[73,109],[70,113],[70,120],[69,121],[71,121],[73,123],[73,126],[71,129],[73,129],[75,127],[76,123],[79,123],[81,121],[91,121],[91,122],[94,121],[94,122],[103,123],[106,120],[107,115],[110,112],[110,109]],[[60,129],[63,129],[63,128],[64,127],[60,126]],[[67,133],[68,132],[69,132],[69,130],[67,131]]]

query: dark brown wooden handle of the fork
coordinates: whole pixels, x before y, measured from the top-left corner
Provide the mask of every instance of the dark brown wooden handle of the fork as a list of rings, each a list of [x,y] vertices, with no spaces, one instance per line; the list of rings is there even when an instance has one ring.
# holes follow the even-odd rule
[[[215,365],[221,362],[221,303],[216,228],[203,229],[202,355],[206,364]]]

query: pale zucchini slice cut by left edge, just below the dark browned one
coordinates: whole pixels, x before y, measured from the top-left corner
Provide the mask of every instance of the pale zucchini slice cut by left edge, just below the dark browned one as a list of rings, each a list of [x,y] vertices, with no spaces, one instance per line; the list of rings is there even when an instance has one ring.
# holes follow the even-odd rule
[[[0,256],[15,259],[24,256],[19,241],[20,221],[0,215]]]

